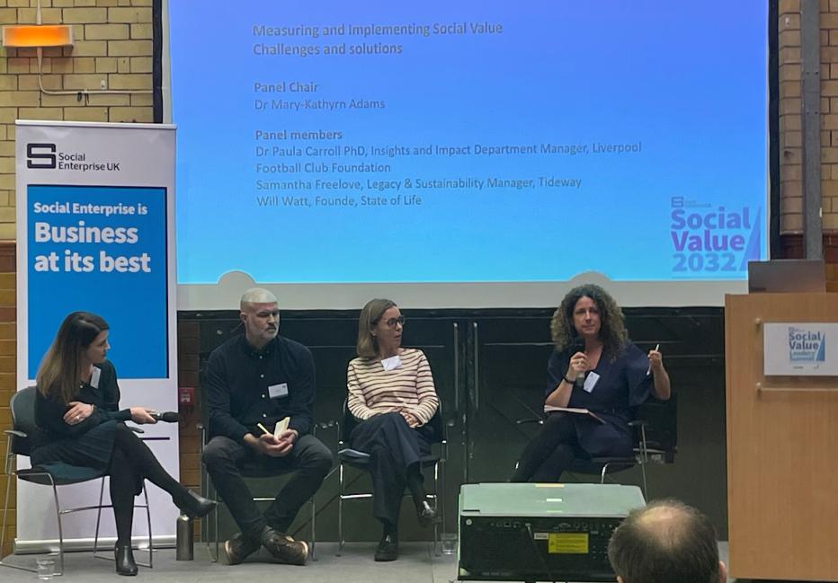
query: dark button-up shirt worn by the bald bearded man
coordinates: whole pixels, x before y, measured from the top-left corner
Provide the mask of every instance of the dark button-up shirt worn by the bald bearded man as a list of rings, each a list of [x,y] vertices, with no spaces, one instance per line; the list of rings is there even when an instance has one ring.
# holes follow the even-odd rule
[[[299,342],[277,336],[257,352],[244,334],[231,338],[209,355],[208,380],[210,436],[241,442],[286,417],[299,435],[311,428],[314,358]]]

